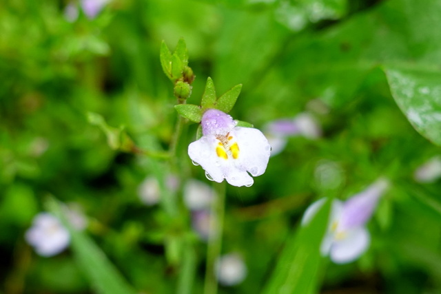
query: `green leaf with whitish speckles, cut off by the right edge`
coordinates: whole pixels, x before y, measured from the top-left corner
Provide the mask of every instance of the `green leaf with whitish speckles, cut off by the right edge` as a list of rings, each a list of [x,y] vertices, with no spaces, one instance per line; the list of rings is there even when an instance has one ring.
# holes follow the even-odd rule
[[[385,67],[396,103],[413,127],[441,145],[441,73]]]

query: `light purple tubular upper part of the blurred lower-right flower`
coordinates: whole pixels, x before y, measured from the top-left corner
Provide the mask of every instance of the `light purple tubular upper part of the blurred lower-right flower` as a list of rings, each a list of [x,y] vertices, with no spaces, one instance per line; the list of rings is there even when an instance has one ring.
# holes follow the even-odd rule
[[[363,226],[371,218],[377,206],[378,199],[389,186],[389,182],[380,179],[364,191],[349,198],[344,204],[342,216],[338,223],[339,231]]]

